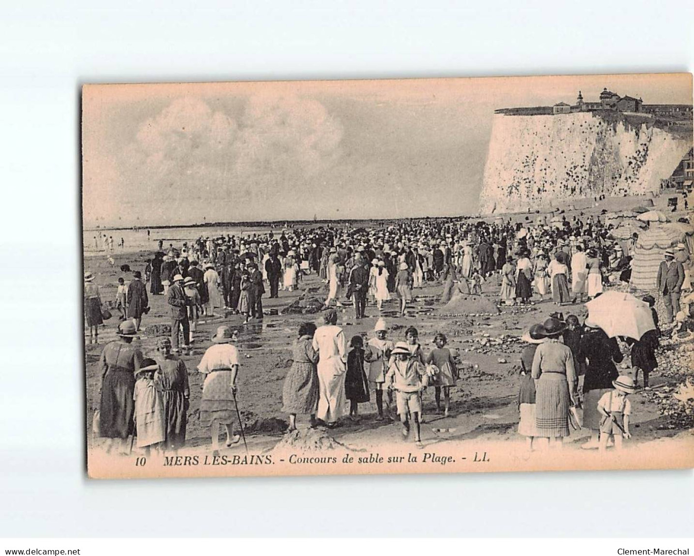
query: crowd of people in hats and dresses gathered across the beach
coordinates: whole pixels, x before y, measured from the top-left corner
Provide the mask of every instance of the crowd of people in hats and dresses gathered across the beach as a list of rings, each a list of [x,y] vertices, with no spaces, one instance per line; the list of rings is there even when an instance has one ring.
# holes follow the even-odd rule
[[[386,321],[378,318],[369,340],[353,336],[347,341],[335,306],[351,299],[359,320],[366,317],[367,306],[379,317],[383,303],[398,297],[399,313],[405,315],[415,288],[433,281],[465,281],[473,295],[481,295],[482,284],[495,275],[500,304],[542,302],[548,295],[559,305],[584,302],[599,296],[611,275],[628,280],[636,238],[620,241],[610,232],[593,216],[564,218],[559,225],[437,218],[375,229],[296,227],[280,235],[200,237],[180,248],[169,245],[166,253],[160,242],[147,261],[144,281],[138,271],[129,284],[119,281],[119,340],[101,354],[100,434],[119,441],[119,451],[126,451],[133,431],[138,446],[180,448],[185,442],[189,386],[178,355],[189,353],[198,317],[219,310],[240,313],[244,322],[262,320],[266,286],[271,298],[278,297],[280,289],[294,290],[305,275],[314,273],[328,286],[323,325],[302,324],[292,346],[294,363],[282,390],[288,430],[296,429],[299,415],[308,415],[311,426],[328,428],[339,426],[341,417],[357,421],[359,404],[371,401],[373,394],[374,418],[389,419],[394,399],[403,435],[412,435],[420,444],[425,392],[434,389],[437,411],[448,416],[450,388],[459,381],[446,337],[432,338],[435,347],[425,353],[414,327],[407,329],[406,341],[392,342]],[[93,280],[91,272],[85,273],[85,318],[90,341],[96,342],[103,304]],[[682,288],[691,288],[687,282],[688,270],[675,260],[674,252],[666,252],[658,290],[670,308],[667,320],[677,315],[679,321],[682,313],[688,322],[688,306],[684,311],[679,306]],[[171,311],[171,338],[160,340],[158,356],[151,360],[131,344],[149,310],[148,283],[149,294],[166,296]],[[654,304],[654,298],[646,300]],[[621,444],[629,435],[627,394],[635,391],[638,372],[648,386],[649,373],[657,365],[654,352],[660,333],[658,329],[630,342],[636,370],[630,377],[616,370],[623,358],[617,340],[596,327],[590,315],[579,324],[575,315],[564,319],[555,313],[531,327],[523,336],[528,347],[521,357],[519,432],[530,444],[547,439],[548,446],[561,445],[575,409],[582,406],[584,426],[595,433],[586,447],[607,445],[600,431]],[[226,428],[228,446],[239,442],[233,427],[239,373],[236,334],[219,327],[197,367],[205,375],[200,419],[210,426],[215,451],[220,425]],[[616,424],[608,426],[605,419]]]

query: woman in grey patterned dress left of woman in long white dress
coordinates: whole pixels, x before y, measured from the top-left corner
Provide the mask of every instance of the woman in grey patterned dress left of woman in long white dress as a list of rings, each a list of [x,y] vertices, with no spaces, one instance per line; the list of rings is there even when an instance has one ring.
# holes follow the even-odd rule
[[[315,426],[318,408],[318,354],[313,349],[316,325],[305,322],[298,332],[299,337],[291,347],[294,363],[291,363],[282,387],[282,411],[289,413],[287,431],[296,431],[296,415],[310,415],[311,426]]]

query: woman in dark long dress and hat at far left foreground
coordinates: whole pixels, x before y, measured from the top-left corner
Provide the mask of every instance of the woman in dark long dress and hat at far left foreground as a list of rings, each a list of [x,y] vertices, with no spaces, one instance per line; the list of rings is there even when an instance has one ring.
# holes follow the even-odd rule
[[[120,339],[107,344],[99,358],[99,434],[110,440],[108,451],[119,442],[119,453],[127,454],[130,451],[128,436],[133,434],[135,373],[142,366],[144,355],[132,344],[133,338],[137,336],[137,329],[132,320],[121,322],[117,335]]]

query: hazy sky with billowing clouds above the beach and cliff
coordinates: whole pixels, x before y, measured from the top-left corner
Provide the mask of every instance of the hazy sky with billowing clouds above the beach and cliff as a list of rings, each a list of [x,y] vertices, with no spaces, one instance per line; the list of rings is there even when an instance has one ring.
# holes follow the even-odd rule
[[[85,85],[83,225],[475,214],[497,108],[691,74]]]

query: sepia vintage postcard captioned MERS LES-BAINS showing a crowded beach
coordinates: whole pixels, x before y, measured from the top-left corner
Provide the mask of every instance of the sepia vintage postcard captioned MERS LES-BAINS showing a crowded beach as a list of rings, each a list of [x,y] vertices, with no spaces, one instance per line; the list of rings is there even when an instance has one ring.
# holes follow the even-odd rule
[[[85,85],[92,478],[694,467],[688,73]]]

